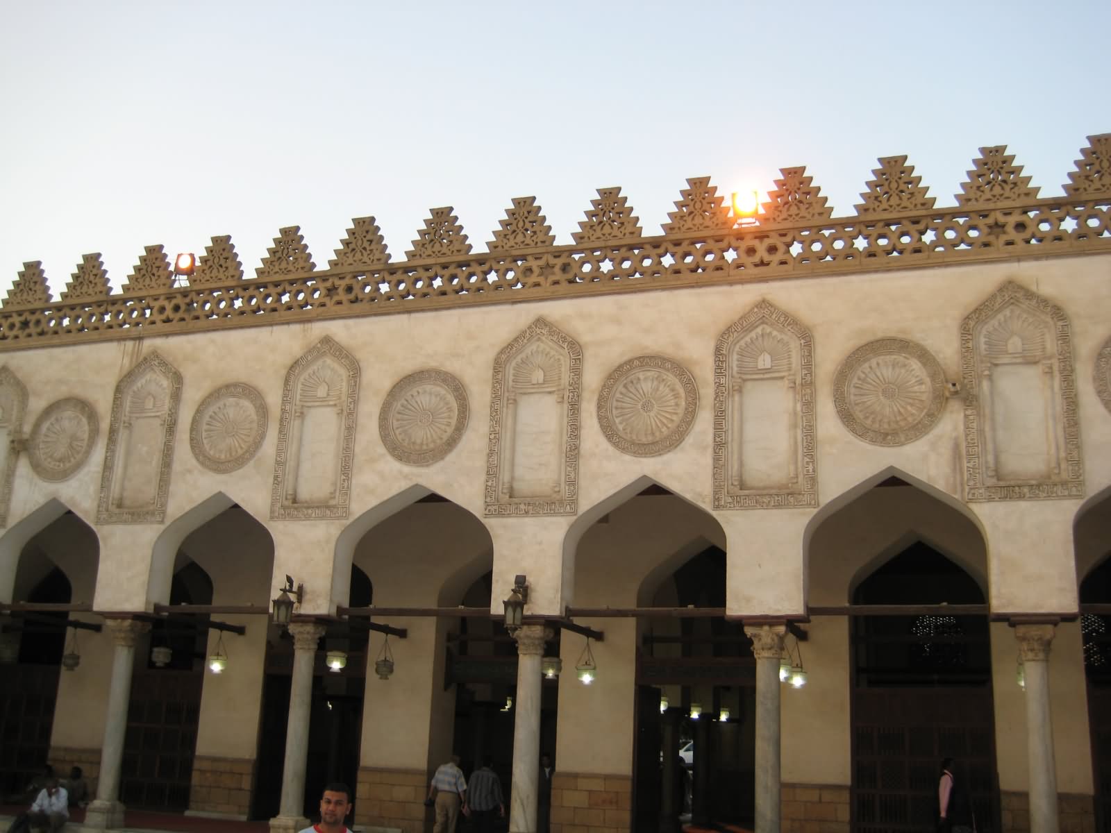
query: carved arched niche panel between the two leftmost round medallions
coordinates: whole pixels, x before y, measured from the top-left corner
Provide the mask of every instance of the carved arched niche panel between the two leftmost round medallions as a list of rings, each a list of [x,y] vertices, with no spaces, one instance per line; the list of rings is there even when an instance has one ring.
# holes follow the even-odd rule
[[[158,353],[116,385],[98,523],[164,520],[180,399],[181,373]]]

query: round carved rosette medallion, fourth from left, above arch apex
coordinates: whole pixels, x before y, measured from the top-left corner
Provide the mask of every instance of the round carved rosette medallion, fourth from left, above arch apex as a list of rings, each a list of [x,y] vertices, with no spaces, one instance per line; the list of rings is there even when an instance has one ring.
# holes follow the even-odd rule
[[[663,355],[638,355],[607,377],[598,394],[598,424],[618,451],[655,456],[675,448],[698,413],[694,379]]]

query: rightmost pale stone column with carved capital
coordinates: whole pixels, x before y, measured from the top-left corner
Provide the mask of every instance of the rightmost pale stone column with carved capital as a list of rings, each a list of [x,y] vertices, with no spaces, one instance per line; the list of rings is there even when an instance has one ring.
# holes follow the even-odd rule
[[[1014,626],[1027,683],[1031,833],[1058,833],[1057,766],[1053,761],[1053,724],[1049,704],[1049,649],[1053,632],[1054,626],[1051,624]]]

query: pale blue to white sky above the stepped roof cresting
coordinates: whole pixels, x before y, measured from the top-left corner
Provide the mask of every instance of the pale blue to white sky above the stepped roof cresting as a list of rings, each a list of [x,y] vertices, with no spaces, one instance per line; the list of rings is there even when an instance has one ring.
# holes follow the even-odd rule
[[[1041,195],[1111,131],[1111,2],[0,0],[0,297],[88,252],[230,234],[246,277],[284,225],[326,269],[356,217],[403,260],[452,205],[484,250],[514,197],[571,243],[620,185],[659,234],[805,165],[834,217],[907,154],[953,205],[1007,144]]]

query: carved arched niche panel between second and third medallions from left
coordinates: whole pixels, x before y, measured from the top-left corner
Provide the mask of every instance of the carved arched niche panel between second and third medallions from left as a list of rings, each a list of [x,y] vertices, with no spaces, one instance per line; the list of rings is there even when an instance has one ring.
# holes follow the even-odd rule
[[[324,337],[286,373],[270,518],[347,518],[359,362]]]

